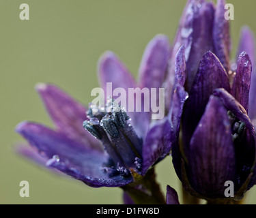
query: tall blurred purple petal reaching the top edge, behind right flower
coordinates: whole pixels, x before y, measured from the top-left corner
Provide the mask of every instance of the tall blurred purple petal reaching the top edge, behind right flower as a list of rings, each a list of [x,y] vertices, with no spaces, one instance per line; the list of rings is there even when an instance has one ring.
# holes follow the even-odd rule
[[[213,21],[214,6],[212,3],[205,1],[188,1],[173,44],[170,60],[171,66],[169,69],[169,74],[172,75],[177,49],[184,45],[186,48],[186,87],[188,91],[193,84],[201,57],[208,50],[212,50]]]

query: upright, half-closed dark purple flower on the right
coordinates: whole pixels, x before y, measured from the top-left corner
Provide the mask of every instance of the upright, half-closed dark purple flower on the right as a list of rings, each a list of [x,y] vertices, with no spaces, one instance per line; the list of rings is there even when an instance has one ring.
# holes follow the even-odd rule
[[[216,7],[203,0],[188,1],[173,46],[176,52],[184,45],[184,67],[179,69],[185,72],[182,83],[189,91],[182,114],[182,143],[172,147],[173,164],[184,189],[207,200],[227,200],[226,181],[233,182],[233,199],[240,200],[256,182],[251,122],[255,119],[255,44],[251,31],[243,29],[236,63],[230,61],[224,5],[223,0]],[[171,57],[170,62],[174,60]],[[170,67],[169,74],[175,68]]]

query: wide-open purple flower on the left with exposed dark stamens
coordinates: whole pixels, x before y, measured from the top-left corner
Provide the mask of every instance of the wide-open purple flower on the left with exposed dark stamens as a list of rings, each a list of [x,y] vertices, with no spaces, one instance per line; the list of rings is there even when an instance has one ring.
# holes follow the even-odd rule
[[[143,55],[137,84],[121,61],[106,52],[98,64],[100,84],[103,89],[106,82],[112,82],[114,89],[159,88],[168,57],[168,38],[156,35]],[[165,203],[151,167],[169,153],[171,137],[176,135],[180,121],[175,119],[176,124],[171,126],[165,117],[150,125],[151,112],[116,110],[121,106],[112,100],[106,104],[108,112],[102,112],[94,105],[85,108],[51,84],[40,84],[36,89],[56,129],[20,123],[16,131],[35,149],[25,147],[19,149],[20,153],[91,187],[123,187],[134,202]],[[177,89],[177,93],[184,91],[182,87]],[[173,107],[170,113],[173,117],[182,113],[184,99],[179,96],[174,100],[179,107]]]

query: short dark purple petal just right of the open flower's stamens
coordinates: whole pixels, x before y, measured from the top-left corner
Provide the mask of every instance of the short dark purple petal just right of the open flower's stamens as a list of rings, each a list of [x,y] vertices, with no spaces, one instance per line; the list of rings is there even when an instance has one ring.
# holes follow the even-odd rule
[[[145,174],[156,161],[163,159],[171,150],[171,125],[167,118],[153,123],[143,143],[143,168]]]

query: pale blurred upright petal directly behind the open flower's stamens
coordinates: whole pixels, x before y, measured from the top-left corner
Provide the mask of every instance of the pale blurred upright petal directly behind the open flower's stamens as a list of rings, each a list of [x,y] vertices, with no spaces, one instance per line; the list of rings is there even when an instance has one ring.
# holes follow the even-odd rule
[[[111,93],[106,92],[106,83],[112,82],[113,91],[116,88],[123,88],[124,91],[126,91],[126,109],[128,108],[129,100],[133,101],[134,106],[136,106],[135,97],[128,96],[128,89],[137,88],[137,84],[134,81],[134,78],[132,78],[132,75],[130,74],[130,72],[128,72],[128,69],[115,56],[113,52],[106,52],[100,58],[98,62],[98,78],[100,81],[100,85],[104,89],[104,93],[107,97],[109,95],[112,95],[112,91]],[[142,106],[144,105],[143,102],[141,105]],[[134,107],[134,111],[136,110],[137,108]],[[144,138],[145,133],[147,132],[147,127],[150,123],[151,113],[143,112],[143,108],[142,108],[141,112],[129,112],[127,110],[127,114],[132,119],[131,123],[135,131],[137,132],[137,134],[141,138]]]

